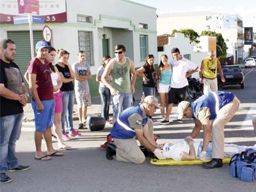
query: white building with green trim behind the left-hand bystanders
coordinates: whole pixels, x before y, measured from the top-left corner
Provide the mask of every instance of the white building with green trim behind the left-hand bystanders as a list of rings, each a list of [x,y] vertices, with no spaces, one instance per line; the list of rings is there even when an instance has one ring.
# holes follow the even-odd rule
[[[125,45],[126,56],[136,67],[143,65],[147,54],[157,55],[156,8],[127,0],[40,0],[39,5],[40,15],[52,31],[52,46],[70,52],[70,63],[77,61],[79,50],[84,50],[92,74],[100,67],[102,56],[115,56],[116,44]],[[17,1],[1,0],[0,7],[0,38],[15,41],[15,61],[24,73],[31,60],[28,24],[12,22],[13,15],[19,15]],[[42,40],[44,25],[33,24],[34,44]],[[95,82],[92,78],[91,84]],[[90,88],[98,92],[97,86]]]

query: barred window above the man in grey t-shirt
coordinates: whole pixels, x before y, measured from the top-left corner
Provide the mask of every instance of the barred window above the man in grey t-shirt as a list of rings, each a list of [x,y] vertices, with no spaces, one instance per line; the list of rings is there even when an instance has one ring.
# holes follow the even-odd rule
[[[92,31],[78,31],[79,50],[85,52],[86,61],[94,66]]]

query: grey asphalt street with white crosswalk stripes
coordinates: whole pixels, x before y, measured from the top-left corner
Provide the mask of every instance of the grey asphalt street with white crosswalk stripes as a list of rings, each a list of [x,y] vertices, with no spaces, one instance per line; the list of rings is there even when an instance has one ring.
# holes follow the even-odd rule
[[[225,142],[255,145],[252,116],[256,114],[256,69],[243,70],[246,76],[244,90],[240,86],[224,89],[236,93],[241,100],[239,111],[225,127]],[[137,100],[139,96],[137,93]],[[90,114],[99,115],[99,102],[99,98],[93,99],[93,106],[88,109]],[[160,118],[160,111],[156,118]],[[173,108],[171,118],[177,118],[177,106]],[[77,127],[77,120],[74,125]],[[155,166],[149,159],[143,164],[109,161],[105,149],[99,146],[106,140],[110,128],[111,125],[107,125],[99,132],[81,131],[81,137],[68,141],[73,150],[63,151],[63,157],[38,161],[34,159],[33,122],[25,122],[16,145],[17,157],[20,164],[30,165],[31,170],[8,173],[13,182],[1,184],[0,191],[255,191],[255,182],[232,178],[228,164],[223,168],[204,170],[200,165]],[[154,128],[160,136],[159,143],[172,142],[187,136],[193,129],[193,121],[184,120],[183,124],[174,121],[170,125],[156,122]],[[201,138],[202,134],[196,140]]]

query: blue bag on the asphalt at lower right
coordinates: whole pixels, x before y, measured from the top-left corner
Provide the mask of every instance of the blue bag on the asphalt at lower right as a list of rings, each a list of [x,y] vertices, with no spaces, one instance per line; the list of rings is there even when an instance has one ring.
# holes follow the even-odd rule
[[[229,162],[232,177],[253,182],[256,178],[256,150],[246,148],[241,154],[234,155]]]

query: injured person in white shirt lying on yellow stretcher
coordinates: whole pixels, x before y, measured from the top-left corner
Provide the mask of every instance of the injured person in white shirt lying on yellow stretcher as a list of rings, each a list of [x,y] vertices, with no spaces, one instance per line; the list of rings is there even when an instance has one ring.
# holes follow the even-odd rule
[[[173,159],[175,161],[185,161],[201,159],[202,161],[211,160],[212,143],[209,143],[206,154],[202,154],[202,141],[194,141],[191,138],[185,140],[176,141],[175,143],[166,142],[163,147],[163,155],[166,159]],[[246,148],[253,148],[256,150],[256,144],[251,147],[224,144],[224,156],[225,158],[232,157],[235,154],[240,154]]]

